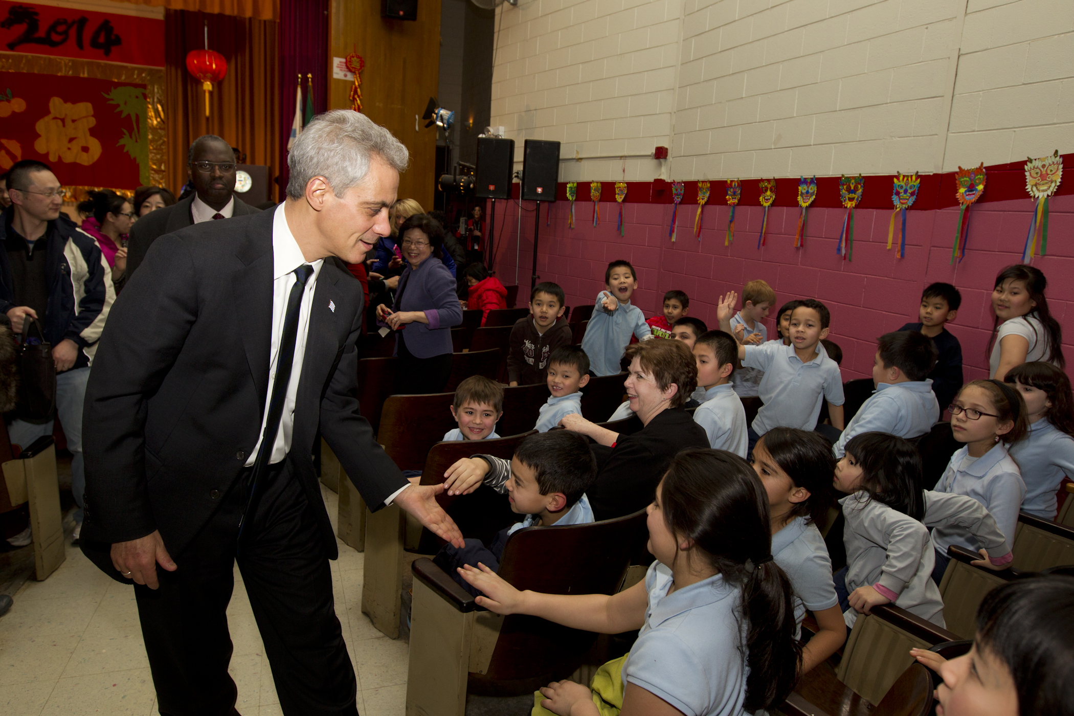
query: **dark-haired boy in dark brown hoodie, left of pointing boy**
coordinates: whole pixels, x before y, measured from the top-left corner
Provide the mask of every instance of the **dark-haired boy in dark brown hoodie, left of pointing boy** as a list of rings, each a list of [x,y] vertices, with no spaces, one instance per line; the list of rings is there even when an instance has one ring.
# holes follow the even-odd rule
[[[564,310],[566,296],[557,283],[545,281],[529,292],[529,316],[520,318],[511,328],[507,352],[508,384],[545,382],[552,351],[574,340],[570,324],[563,318]]]

